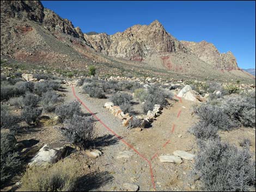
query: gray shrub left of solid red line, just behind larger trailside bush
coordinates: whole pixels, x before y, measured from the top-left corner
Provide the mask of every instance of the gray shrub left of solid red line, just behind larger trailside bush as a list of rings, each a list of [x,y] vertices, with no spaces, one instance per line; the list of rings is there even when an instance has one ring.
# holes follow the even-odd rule
[[[55,110],[55,113],[64,119],[70,119],[74,114],[82,115],[83,112],[80,107],[80,102],[72,101],[70,103],[63,103],[61,106],[58,106]]]

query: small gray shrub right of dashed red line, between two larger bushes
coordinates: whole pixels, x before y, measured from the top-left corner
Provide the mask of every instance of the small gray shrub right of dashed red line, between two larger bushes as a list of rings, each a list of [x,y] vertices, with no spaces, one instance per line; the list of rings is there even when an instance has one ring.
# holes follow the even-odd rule
[[[190,128],[190,132],[196,136],[197,139],[217,139],[218,136],[218,127],[214,125],[207,125],[203,121],[199,121]]]

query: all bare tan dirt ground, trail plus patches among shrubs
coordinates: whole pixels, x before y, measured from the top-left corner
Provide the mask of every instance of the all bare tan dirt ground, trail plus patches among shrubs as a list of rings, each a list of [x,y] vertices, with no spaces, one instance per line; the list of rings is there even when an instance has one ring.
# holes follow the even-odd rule
[[[66,86],[65,88],[65,102],[75,101],[76,98],[72,94],[71,87]],[[197,182],[194,183],[196,188],[192,189],[188,185],[188,175],[192,171],[193,162],[184,160],[182,164],[175,165],[161,163],[157,157],[161,154],[172,154],[175,150],[196,153],[196,139],[187,132],[188,128],[198,121],[197,117],[192,113],[194,103],[185,100],[182,100],[182,102],[169,101],[172,105],[162,110],[162,114],[151,124],[152,127],[138,132],[132,129],[127,130],[122,126],[121,120],[103,108],[103,104],[108,99],[90,98],[85,94],[81,94],[80,89],[77,87],[75,87],[75,92],[102,122],[151,162],[156,191],[199,190]],[[82,105],[81,108],[84,112],[87,112]],[[179,117],[178,114],[180,114]],[[175,125],[174,129],[173,125]],[[17,140],[34,138],[39,140],[37,145],[59,141],[65,143],[65,138],[58,129],[60,126],[28,129],[27,132],[19,133]],[[148,162],[118,140],[100,122],[96,122],[96,130],[96,140],[99,141],[99,145],[96,147],[103,152],[101,157],[90,158],[86,156],[84,151],[77,151],[66,157],[79,162],[81,170],[77,173],[78,175],[89,174],[90,178],[92,178],[92,181],[89,182],[90,184],[83,190],[119,191],[123,190],[123,183],[135,183],[139,185],[140,191],[154,191]],[[237,146],[239,146],[240,140],[249,138],[252,142],[250,150],[255,159],[255,129],[242,127],[229,132],[220,132],[220,135],[223,141],[234,143]],[[127,160],[117,159],[121,151],[130,151],[132,155]],[[8,188],[3,190],[8,190]]]

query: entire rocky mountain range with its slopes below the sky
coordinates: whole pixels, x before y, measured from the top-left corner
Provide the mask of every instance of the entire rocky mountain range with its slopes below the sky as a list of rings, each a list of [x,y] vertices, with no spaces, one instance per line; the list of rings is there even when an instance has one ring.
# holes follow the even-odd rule
[[[220,54],[206,42],[194,46],[178,41],[157,20],[114,35],[83,34],[40,1],[1,1],[1,55],[60,69],[94,64],[109,75],[138,71],[174,78],[252,80],[237,70],[231,53]]]

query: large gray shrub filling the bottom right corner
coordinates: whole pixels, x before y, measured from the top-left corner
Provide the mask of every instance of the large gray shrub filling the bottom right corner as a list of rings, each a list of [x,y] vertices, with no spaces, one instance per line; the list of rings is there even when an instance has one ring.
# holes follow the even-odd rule
[[[206,140],[199,145],[194,169],[205,191],[248,191],[255,184],[255,163],[248,148],[220,140]]]

